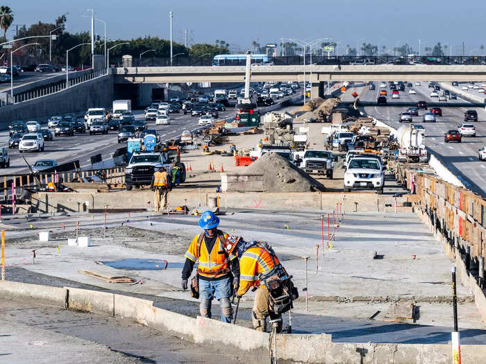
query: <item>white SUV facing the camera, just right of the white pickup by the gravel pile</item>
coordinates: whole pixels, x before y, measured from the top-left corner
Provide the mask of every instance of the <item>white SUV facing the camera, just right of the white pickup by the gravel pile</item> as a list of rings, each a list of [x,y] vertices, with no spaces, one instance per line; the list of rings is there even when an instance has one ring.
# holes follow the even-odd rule
[[[383,193],[385,174],[376,158],[353,158],[344,173],[344,192],[351,189],[376,189]]]

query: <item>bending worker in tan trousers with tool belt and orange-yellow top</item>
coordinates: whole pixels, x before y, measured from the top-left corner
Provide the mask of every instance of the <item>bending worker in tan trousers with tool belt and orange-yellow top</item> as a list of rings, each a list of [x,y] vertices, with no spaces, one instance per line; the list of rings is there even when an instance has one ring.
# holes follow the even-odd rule
[[[282,331],[282,313],[293,308],[299,293],[291,276],[280,264],[274,250],[264,241],[237,243],[240,259],[240,288],[237,300],[250,288],[256,290],[251,321],[257,331],[267,330],[267,318],[274,322],[276,333]]]

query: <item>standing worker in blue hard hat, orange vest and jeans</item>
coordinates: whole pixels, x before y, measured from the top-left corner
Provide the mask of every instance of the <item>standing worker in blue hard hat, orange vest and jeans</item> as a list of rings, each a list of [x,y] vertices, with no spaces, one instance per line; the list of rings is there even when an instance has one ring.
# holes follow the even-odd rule
[[[196,282],[199,281],[199,311],[206,318],[211,318],[211,302],[219,301],[221,321],[231,323],[233,309],[230,297],[240,281],[240,266],[234,254],[228,254],[223,243],[228,237],[217,229],[219,218],[212,211],[204,211],[199,220],[203,232],[192,239],[185,253],[185,264],[182,272],[182,288],[187,289],[194,263],[199,262]],[[192,279],[194,284],[194,279]],[[198,283],[196,283],[198,284]]]

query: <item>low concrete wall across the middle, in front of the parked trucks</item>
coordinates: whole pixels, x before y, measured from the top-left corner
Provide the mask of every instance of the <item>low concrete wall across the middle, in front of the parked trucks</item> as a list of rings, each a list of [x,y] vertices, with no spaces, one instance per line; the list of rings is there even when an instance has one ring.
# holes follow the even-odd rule
[[[343,211],[348,212],[387,212],[394,211],[393,196],[377,195],[374,192],[362,193],[259,193],[259,192],[227,192],[199,193],[185,192],[174,189],[169,192],[168,202],[173,208],[187,205],[188,207],[207,207],[210,198],[217,198],[221,209],[255,209],[263,211],[333,211],[336,203],[342,204]],[[153,207],[153,192],[149,189],[141,191],[115,191],[109,193],[34,193],[31,197],[33,209],[37,212],[83,211],[83,205],[89,201],[90,208],[109,209]],[[406,198],[397,198],[399,211],[411,211],[410,207],[402,207]],[[389,206],[387,206],[389,205]]]

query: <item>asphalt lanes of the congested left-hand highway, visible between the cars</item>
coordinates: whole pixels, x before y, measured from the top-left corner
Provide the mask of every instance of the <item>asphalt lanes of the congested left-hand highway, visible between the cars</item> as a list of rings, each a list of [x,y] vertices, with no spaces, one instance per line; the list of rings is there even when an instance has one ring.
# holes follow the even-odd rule
[[[292,96],[296,96],[293,94]],[[282,99],[285,100],[286,98]],[[280,100],[281,101],[281,100]],[[135,119],[144,119],[144,110],[133,110]],[[219,119],[224,119],[228,116],[233,116],[235,109],[228,107],[225,112],[219,112]],[[190,116],[190,114],[170,114],[170,125],[156,125],[155,121],[147,122],[147,128],[156,129],[161,137],[161,140],[168,140],[178,137],[184,130],[194,130],[199,128],[198,116]],[[42,125],[47,128],[47,125]],[[53,130],[52,130],[53,131]],[[38,159],[55,159],[59,164],[79,159],[81,166],[90,164],[90,156],[101,153],[101,157],[109,159],[112,153],[126,146],[125,143],[118,144],[118,132],[110,130],[108,135],[90,135],[87,132],[84,135],[75,134],[74,137],[53,137],[53,141],[45,142],[45,150],[43,153],[19,153],[19,150],[8,149],[10,154],[10,168],[1,169],[0,175],[12,175],[15,173],[26,173],[28,168],[22,156],[24,156],[30,164],[35,163]],[[8,148],[8,130],[0,131],[0,146]]]

